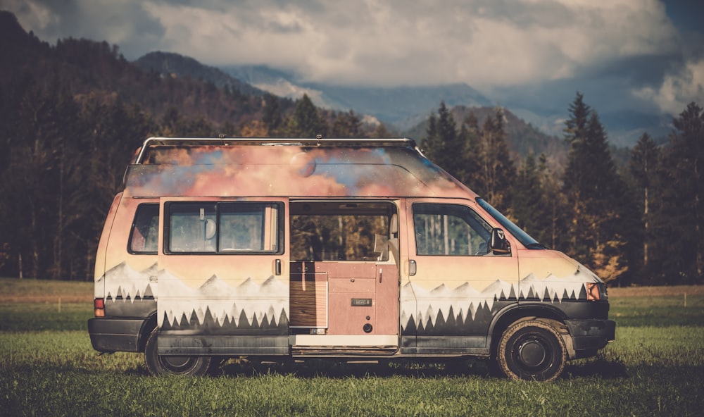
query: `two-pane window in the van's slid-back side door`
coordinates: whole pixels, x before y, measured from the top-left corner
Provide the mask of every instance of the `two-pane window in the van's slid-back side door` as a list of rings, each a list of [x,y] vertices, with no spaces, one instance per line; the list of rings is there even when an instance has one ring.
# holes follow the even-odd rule
[[[279,204],[167,204],[168,253],[281,253]]]

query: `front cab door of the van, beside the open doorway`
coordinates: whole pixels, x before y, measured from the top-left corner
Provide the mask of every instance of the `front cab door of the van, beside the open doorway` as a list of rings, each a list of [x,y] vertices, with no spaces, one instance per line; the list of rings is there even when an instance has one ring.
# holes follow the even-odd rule
[[[517,302],[515,252],[487,253],[494,225],[482,223],[484,216],[478,217],[471,200],[407,199],[406,212],[416,273],[401,289],[401,326],[404,336],[415,335],[415,346],[409,338],[404,351],[456,354],[486,348],[491,318]]]

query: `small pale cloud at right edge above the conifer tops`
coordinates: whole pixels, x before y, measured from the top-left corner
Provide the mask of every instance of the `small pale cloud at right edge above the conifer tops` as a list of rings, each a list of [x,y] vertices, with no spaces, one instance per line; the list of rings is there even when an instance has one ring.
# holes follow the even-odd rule
[[[704,59],[689,61],[677,72],[668,73],[658,87],[643,87],[633,93],[655,102],[662,112],[673,116],[692,101],[704,103]]]

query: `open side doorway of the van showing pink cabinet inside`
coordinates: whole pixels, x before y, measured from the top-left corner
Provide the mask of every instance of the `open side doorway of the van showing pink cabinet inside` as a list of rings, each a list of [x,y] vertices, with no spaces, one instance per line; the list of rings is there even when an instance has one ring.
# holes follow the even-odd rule
[[[398,204],[291,201],[294,355],[398,350]]]

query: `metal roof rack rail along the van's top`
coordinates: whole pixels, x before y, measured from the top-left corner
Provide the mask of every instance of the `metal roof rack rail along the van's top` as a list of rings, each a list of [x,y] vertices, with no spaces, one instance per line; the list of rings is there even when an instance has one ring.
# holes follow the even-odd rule
[[[150,137],[142,144],[135,163],[142,163],[142,157],[146,149],[150,147],[172,146],[172,147],[196,147],[196,146],[221,146],[232,145],[254,145],[254,146],[410,146],[416,147],[413,139],[406,137],[379,137],[379,138],[323,138],[320,135],[315,138],[262,138],[262,137]]]

